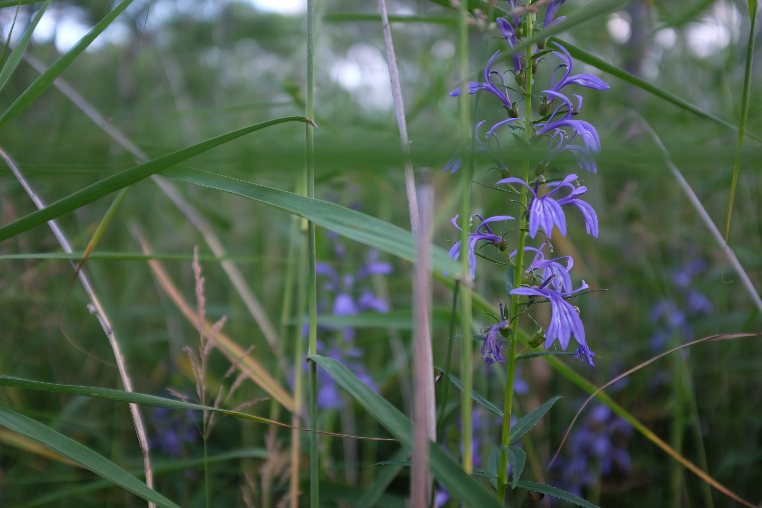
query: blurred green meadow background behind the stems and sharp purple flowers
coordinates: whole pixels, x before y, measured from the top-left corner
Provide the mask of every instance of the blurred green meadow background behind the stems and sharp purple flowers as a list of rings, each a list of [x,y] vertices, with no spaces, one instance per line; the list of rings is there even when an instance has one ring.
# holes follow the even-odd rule
[[[434,242],[449,249],[459,238],[450,224],[459,209],[459,175],[441,171],[459,144],[457,101],[447,95],[458,85],[457,26],[456,12],[437,3],[405,0],[391,2],[388,7],[392,16],[426,18],[404,22],[392,18],[392,35],[413,165],[417,174],[421,168],[431,168],[436,196]],[[580,5],[569,0],[564,9],[568,14]],[[50,65],[112,7],[110,2],[52,2],[27,53]],[[40,3],[21,6],[12,43],[38,8]],[[101,120],[117,126],[149,158],[157,158],[232,129],[304,114],[304,8],[296,0],[282,4],[259,0],[135,0],[62,78],[94,105]],[[409,230],[378,5],[330,0],[319,2],[318,11],[315,195]],[[14,12],[14,7],[0,9],[4,40]],[[630,2],[559,37],[737,125],[749,28],[745,2]],[[485,36],[484,30],[472,28],[472,69],[479,69],[485,56],[502,48],[495,34],[497,31],[491,30],[491,37]],[[752,84],[760,78],[758,53],[754,59],[757,65]],[[552,241],[559,255],[575,255],[578,278],[593,289],[607,292],[593,292],[575,302],[581,308],[588,343],[597,353],[597,366],[572,362],[567,356],[557,358],[598,386],[683,340],[759,331],[759,310],[738,274],[726,266],[722,247],[671,175],[664,155],[639,117],[661,138],[674,165],[722,232],[737,133],[589,65],[577,65],[582,69],[578,72],[594,72],[611,85],[605,94],[586,94],[584,103],[585,110],[594,112],[603,147],[597,159],[597,177],[581,175],[589,189],[588,201],[598,212],[600,239],[581,234],[582,222],[572,217],[568,238],[573,241]],[[541,65],[539,79],[546,79],[552,66],[555,62]],[[0,109],[5,110],[38,75],[22,61],[0,91]],[[747,129],[754,135],[762,134],[760,90],[752,85],[748,108]],[[474,119],[494,120],[504,114],[485,103],[479,101],[472,112]],[[46,203],[136,164],[134,155],[53,87],[2,127],[0,149],[16,162]],[[762,287],[760,149],[760,142],[744,142],[729,235],[730,247],[757,288]],[[518,158],[520,152],[516,150],[515,155]],[[204,152],[182,162],[181,168],[295,191],[297,183],[303,181],[304,165],[302,126],[283,123]],[[494,184],[498,174],[489,168],[487,161],[476,161],[474,180]],[[138,232],[152,251],[174,256],[162,260],[162,266],[194,308],[191,257],[194,246],[199,246],[206,277],[207,318],[216,321],[227,316],[223,332],[242,350],[253,345],[251,356],[288,387],[293,379],[294,340],[300,337],[296,279],[300,270],[306,270],[298,248],[289,255],[290,242],[298,244],[301,237],[298,227],[293,228],[287,213],[262,203],[173,183],[234,257],[280,336],[283,358],[273,353],[219,260],[210,259],[213,252],[197,228],[152,181],[145,180],[127,193],[84,269],[112,321],[133,388],[162,397],[170,396],[167,388],[194,395],[191,366],[183,347],[197,347],[198,341],[195,324],[168,298],[146,260],[117,259],[116,253],[142,252]],[[57,219],[74,251],[85,249],[112,200],[97,200]],[[485,216],[506,210],[511,213],[517,208],[507,201],[506,194],[479,185],[473,187],[472,203],[474,212]],[[0,205],[2,225],[35,210],[5,165],[0,168]],[[341,241],[346,254],[340,263],[335,252],[337,242],[335,235],[317,228],[318,261],[343,273],[355,273],[365,263],[369,248]],[[121,389],[114,355],[98,320],[86,308],[89,300],[82,286],[73,284],[66,299],[73,275],[69,262],[8,258],[11,254],[60,251],[46,225],[0,243],[0,256],[5,256],[0,260],[0,374]],[[104,254],[98,256],[99,252]],[[499,254],[491,247],[480,252],[494,259]],[[376,390],[409,414],[405,404],[409,404],[410,376],[399,369],[399,360],[405,363],[411,356],[412,264],[384,253],[380,259],[392,264],[392,273],[358,283],[357,289],[373,289],[385,297],[392,310],[384,316],[363,315],[352,323],[354,347],[359,350],[356,361]],[[690,273],[690,283],[679,277],[687,267],[696,268]],[[325,281],[319,279],[319,314],[330,314],[335,296],[323,287]],[[498,300],[505,299],[504,282],[501,267],[479,260],[475,292],[495,308]],[[575,280],[575,286],[577,283]],[[706,295],[711,310],[705,307],[706,312],[689,312],[689,289]],[[287,290],[293,294],[284,314],[283,292]],[[434,283],[437,366],[444,364],[447,354],[451,293],[442,283]],[[676,315],[674,308],[661,317],[655,314],[654,309],[666,299],[686,312],[690,331],[682,323],[670,324]],[[474,321],[478,326],[491,322],[479,311],[474,313]],[[327,354],[328,344],[341,343],[337,334],[325,328],[320,331],[325,350],[319,349],[319,353]],[[457,365],[459,347],[454,351],[453,365]],[[700,344],[684,355],[675,353],[636,372],[609,393],[717,481],[744,499],[757,502],[762,497],[757,481],[762,474],[760,355],[762,343],[755,338]],[[281,368],[283,363],[289,366],[286,372]],[[229,366],[226,356],[217,351],[211,354],[208,383],[213,394]],[[530,433],[542,469],[588,394],[550,369],[543,358],[527,360],[521,367],[521,378],[530,388],[517,395],[520,414],[554,395],[564,396]],[[504,369],[487,366],[477,357],[474,375],[475,390],[500,406]],[[681,384],[684,379],[690,382]],[[389,437],[373,417],[343,391],[339,393],[344,409],[321,411],[320,430]],[[450,389],[453,407],[456,394],[456,388]],[[266,396],[260,386],[247,380],[225,407],[232,409]],[[0,404],[75,439],[127,471],[142,471],[126,404],[18,388],[0,389]],[[490,445],[498,439],[499,423],[481,406],[475,404],[475,411],[475,417],[483,422],[475,430],[480,443],[475,455],[484,464]],[[246,412],[290,421],[287,411],[269,401]],[[587,425],[584,415],[588,413],[577,427]],[[143,408],[142,414],[152,445],[158,492],[180,506],[203,506],[203,443],[194,423],[200,416],[150,407]],[[443,427],[443,443],[456,460],[458,414],[457,410],[448,413]],[[303,427],[307,427],[304,420]],[[213,506],[286,506],[291,433],[270,429],[263,423],[234,418],[224,418],[216,425],[208,443]],[[299,436],[303,442],[300,490],[303,506],[307,506],[309,435]],[[709,502],[733,506],[716,490],[706,494],[703,482],[676,468],[676,462],[639,433],[617,434],[613,443],[627,450],[632,468],[614,467],[604,474],[600,462],[591,460],[588,467],[594,479],[579,484],[591,502],[600,506],[708,506]],[[321,494],[326,506],[357,506],[363,492],[383,474],[383,468],[394,467],[372,465],[395,458],[399,445],[358,441],[355,446],[357,464],[347,463],[343,440],[321,437]],[[562,457],[571,458],[569,445]],[[527,473],[539,481],[538,469],[530,466]],[[375,506],[402,506],[402,498],[408,495],[408,478],[406,468],[399,471]],[[545,479],[559,486],[568,481],[557,468]],[[482,480],[487,484],[479,478]],[[546,502],[533,503],[520,495],[514,500],[515,506],[543,506]],[[30,443],[18,439],[17,433],[0,427],[0,505],[144,504],[120,487],[103,483],[90,471],[50,458],[43,449],[32,449]]]

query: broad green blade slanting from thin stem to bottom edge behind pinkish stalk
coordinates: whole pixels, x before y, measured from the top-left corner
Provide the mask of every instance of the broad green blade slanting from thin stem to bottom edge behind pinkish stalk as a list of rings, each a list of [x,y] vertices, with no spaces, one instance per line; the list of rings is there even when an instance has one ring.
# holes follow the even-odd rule
[[[392,433],[402,443],[413,446],[412,424],[396,407],[389,404],[385,398],[368,388],[357,376],[333,358],[326,356],[309,356],[315,363],[325,369],[339,385],[360,403],[365,410],[378,420],[389,433]],[[450,458],[436,443],[430,443],[429,468],[434,475],[450,490],[453,497],[463,500],[472,508],[500,508],[502,503]]]

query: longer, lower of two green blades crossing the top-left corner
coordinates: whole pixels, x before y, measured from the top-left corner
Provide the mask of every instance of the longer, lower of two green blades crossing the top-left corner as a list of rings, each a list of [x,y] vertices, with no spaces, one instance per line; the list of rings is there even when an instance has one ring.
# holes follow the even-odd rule
[[[64,72],[67,67],[69,67],[69,65],[72,65],[72,62],[74,62],[77,56],[79,56],[83,51],[87,49],[88,46],[90,46],[92,41],[95,40],[95,37],[101,35],[101,32],[106,30],[108,25],[110,25],[111,22],[114,21],[117,16],[121,14],[122,11],[124,11],[124,9],[126,9],[131,3],[133,3],[133,0],[123,0],[123,2],[121,2],[112,11],[106,14],[105,18],[103,18],[101,21],[98,21],[98,24],[92,27],[91,30],[85,34],[85,37],[82,37],[82,39],[78,40],[77,43],[72,46],[71,49],[69,49],[69,51],[63,53],[59,59],[53,62],[53,65],[50,65],[50,67],[48,67],[45,72],[40,74],[40,76],[37,77],[37,79],[35,79],[34,82],[32,82],[32,84],[29,85],[27,89],[24,90],[10,106],[8,106],[8,109],[5,110],[2,115],[0,115],[0,128],[17,117],[18,113],[21,113],[21,111],[26,109],[26,107],[31,104],[34,99],[39,97],[40,94],[46,90],[46,88],[52,85],[53,81],[56,81],[56,78],[58,78],[59,75],[61,75],[61,73]],[[21,58],[21,55],[19,55],[19,57]]]

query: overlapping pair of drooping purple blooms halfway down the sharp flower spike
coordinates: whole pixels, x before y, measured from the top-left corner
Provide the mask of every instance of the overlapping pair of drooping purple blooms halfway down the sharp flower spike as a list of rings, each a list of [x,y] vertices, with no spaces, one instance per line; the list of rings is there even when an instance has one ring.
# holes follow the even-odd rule
[[[584,223],[588,229],[588,234],[598,238],[598,217],[595,214],[595,210],[588,203],[577,199],[577,196],[587,192],[588,187],[574,187],[571,181],[577,179],[576,174],[569,174],[564,178],[562,182],[552,182],[547,184],[548,187],[555,187],[544,196],[537,196],[537,189],[539,188],[539,180],[535,181],[534,188],[530,187],[527,182],[520,178],[504,178],[498,181],[495,185],[499,184],[520,184],[532,193],[532,200],[529,203],[527,209],[529,209],[529,232],[530,236],[534,238],[542,226],[545,234],[550,237],[552,234],[553,226],[559,228],[559,232],[562,236],[566,236],[566,216],[561,209],[562,205],[576,206],[582,212],[584,216]],[[564,196],[559,200],[555,199],[555,195],[563,187],[570,187],[571,193],[568,196]]]

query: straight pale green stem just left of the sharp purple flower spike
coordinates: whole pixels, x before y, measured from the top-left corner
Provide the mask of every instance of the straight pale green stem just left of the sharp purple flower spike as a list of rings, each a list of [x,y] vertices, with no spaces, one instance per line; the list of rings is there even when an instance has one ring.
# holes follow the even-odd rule
[[[460,81],[463,90],[468,89],[469,82],[469,11],[468,2],[460,2],[459,39],[460,39]],[[461,161],[461,202],[460,221],[463,228],[460,232],[460,262],[463,267],[463,298],[460,299],[461,333],[463,337],[471,335],[471,278],[469,276],[468,240],[469,240],[469,217],[471,216],[471,157],[469,154],[469,142],[471,140],[471,110],[469,109],[469,94],[460,94],[460,136],[463,146],[463,159]],[[471,391],[473,386],[473,343],[472,340],[461,340],[460,350],[460,381],[463,382],[463,391],[460,397],[461,420],[463,421],[463,471],[471,474],[473,469],[473,457],[471,441],[473,429],[471,425]]]

